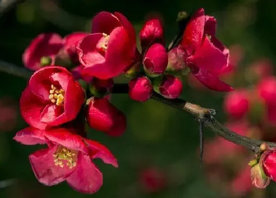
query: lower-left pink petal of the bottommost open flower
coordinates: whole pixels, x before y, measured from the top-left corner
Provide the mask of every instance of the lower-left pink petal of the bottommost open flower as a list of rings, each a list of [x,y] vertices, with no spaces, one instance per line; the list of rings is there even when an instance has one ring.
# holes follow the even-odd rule
[[[53,154],[58,146],[36,151],[29,156],[32,169],[37,180],[46,185],[52,186],[64,181],[75,169],[55,166]]]

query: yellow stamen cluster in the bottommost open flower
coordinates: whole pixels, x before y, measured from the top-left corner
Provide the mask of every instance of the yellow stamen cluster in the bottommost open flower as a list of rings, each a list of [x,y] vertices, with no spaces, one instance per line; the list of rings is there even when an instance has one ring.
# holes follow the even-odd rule
[[[67,147],[64,147],[62,145],[58,146],[58,149],[53,154],[54,162],[56,166],[59,166],[61,168],[64,167],[64,161],[66,162],[66,165],[69,167],[69,169],[72,169],[73,167],[76,167],[77,163],[77,151],[69,149]]]

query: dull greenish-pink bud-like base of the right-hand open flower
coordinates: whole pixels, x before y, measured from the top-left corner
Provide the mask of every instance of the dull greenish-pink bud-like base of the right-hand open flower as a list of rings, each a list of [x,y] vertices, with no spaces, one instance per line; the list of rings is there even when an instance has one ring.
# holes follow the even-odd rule
[[[173,48],[168,52],[168,66],[166,68],[166,73],[172,75],[182,75],[189,72],[189,67],[186,66],[184,59],[186,59],[187,53],[181,48]]]

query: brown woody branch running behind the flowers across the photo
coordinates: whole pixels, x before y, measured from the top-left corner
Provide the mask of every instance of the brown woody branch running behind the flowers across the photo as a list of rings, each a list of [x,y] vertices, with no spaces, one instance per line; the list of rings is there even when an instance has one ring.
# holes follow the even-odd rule
[[[29,79],[29,77],[33,73],[25,68],[17,67],[13,64],[10,64],[1,60],[0,60],[0,71],[6,72],[18,77],[22,77],[25,79]],[[115,84],[112,93],[128,93],[128,90],[129,90],[128,84]],[[228,141],[232,141],[235,144],[244,146],[252,150],[256,154],[259,153],[260,145],[264,142],[271,147],[276,147],[276,142],[253,140],[253,139],[241,136],[239,134],[236,134],[235,132],[227,129],[214,118],[214,115],[216,114],[216,111],[214,109],[207,109],[199,105],[195,105],[193,103],[182,100],[180,98],[167,99],[156,92],[152,94],[150,99],[156,100],[165,105],[169,105],[175,109],[192,114],[195,118],[201,121],[201,123],[205,127],[209,128],[218,136]]]

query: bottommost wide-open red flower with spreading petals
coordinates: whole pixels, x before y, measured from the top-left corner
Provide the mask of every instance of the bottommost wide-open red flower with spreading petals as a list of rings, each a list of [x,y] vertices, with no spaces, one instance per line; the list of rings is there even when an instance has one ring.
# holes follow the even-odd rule
[[[118,167],[110,151],[97,141],[91,141],[69,128],[38,130],[27,127],[14,140],[26,144],[47,144],[29,156],[37,180],[47,186],[67,181],[78,192],[93,194],[103,185],[102,172],[91,161],[100,158]]]

